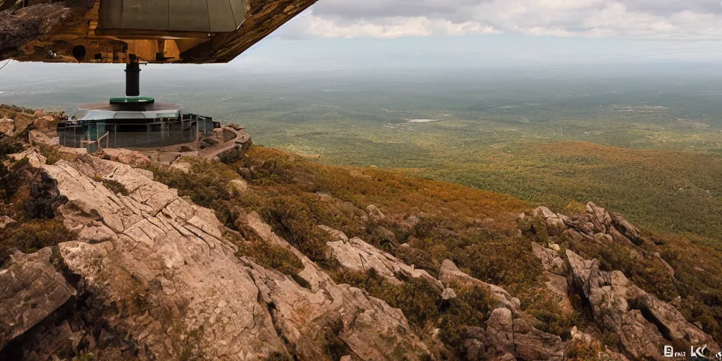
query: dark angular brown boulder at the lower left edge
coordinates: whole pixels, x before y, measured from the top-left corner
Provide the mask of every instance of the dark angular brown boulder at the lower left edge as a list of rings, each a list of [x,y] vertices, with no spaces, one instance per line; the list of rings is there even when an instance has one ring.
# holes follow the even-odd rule
[[[15,251],[0,269],[0,349],[76,294],[51,264],[52,253],[51,248]]]

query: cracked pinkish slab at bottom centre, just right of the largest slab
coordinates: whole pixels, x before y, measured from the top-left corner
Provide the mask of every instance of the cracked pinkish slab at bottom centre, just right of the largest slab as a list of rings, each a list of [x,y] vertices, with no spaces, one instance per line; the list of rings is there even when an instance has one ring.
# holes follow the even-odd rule
[[[331,360],[325,349],[333,339],[358,360],[393,360],[397,350],[407,360],[430,357],[401,310],[362,290],[329,283],[313,292],[274,271],[253,267],[250,274],[279,334],[299,360]]]

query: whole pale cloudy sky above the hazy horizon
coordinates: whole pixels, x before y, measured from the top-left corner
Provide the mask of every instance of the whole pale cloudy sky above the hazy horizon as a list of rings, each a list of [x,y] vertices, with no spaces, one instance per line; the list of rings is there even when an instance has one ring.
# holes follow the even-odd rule
[[[721,35],[720,0],[319,0],[234,64],[716,62]]]

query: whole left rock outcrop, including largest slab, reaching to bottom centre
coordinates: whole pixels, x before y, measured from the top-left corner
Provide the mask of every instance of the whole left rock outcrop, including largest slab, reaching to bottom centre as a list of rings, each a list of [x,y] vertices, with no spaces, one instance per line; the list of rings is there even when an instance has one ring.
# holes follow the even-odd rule
[[[39,166],[66,198],[58,212],[64,225],[77,232],[77,240],[16,255],[0,271],[0,277],[11,277],[2,284],[13,285],[2,290],[7,297],[0,299],[14,304],[4,307],[7,314],[0,318],[22,320],[0,330],[3,344],[23,333],[26,340],[55,335],[34,348],[25,344],[14,355],[39,355],[43,345],[64,344],[69,338],[90,339],[100,348],[107,342],[98,337],[121,334],[129,346],[118,352],[142,360],[188,355],[331,360],[334,352],[359,360],[393,360],[398,352],[409,360],[430,357],[401,310],[336,284],[257,214],[249,216],[251,225],[264,240],[302,259],[305,269],[299,277],[313,284],[311,290],[235,256],[236,245],[224,238],[229,231],[212,211],[152,181],[145,170],[97,157]],[[113,193],[98,178],[120,183],[128,195]],[[22,276],[21,270],[42,277]],[[84,314],[97,317],[92,321],[102,325],[100,336],[77,329],[69,333],[67,322],[53,323],[51,331],[32,329],[74,295],[93,300],[85,303],[92,310]],[[31,308],[36,302],[40,307]],[[103,349],[98,352],[102,358]]]

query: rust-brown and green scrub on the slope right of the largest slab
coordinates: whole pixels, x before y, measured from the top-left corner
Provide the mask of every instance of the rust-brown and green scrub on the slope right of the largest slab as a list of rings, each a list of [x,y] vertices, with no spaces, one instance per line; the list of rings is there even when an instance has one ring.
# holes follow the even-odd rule
[[[566,315],[561,312],[558,297],[545,287],[547,279],[531,253],[532,239],[518,235],[512,220],[512,213],[531,207],[510,196],[388,170],[321,165],[264,147],[253,147],[233,164],[189,162],[193,165],[191,175],[157,168],[153,169],[156,179],[211,207],[222,222],[247,239],[255,238],[245,226],[245,214],[258,212],[277,234],[321,264],[337,282],[360,287],[401,308],[419,328],[440,327],[450,345],[465,326],[487,317],[481,304],[472,305],[469,300],[468,308],[465,304],[443,310],[438,292],[430,292],[427,285],[417,284],[417,280],[405,280],[404,285],[398,285],[377,274],[342,271],[329,257],[328,235],[319,232],[316,225],[362,238],[432,275],[437,275],[441,262],[449,258],[472,277],[497,284],[519,297],[523,310],[540,321],[535,325],[538,329],[564,339],[569,337],[572,326],[592,323],[589,310],[575,297],[571,297],[574,312]],[[242,175],[251,190],[234,194],[228,182]],[[370,204],[378,206],[386,217],[371,217],[365,212]],[[581,212],[583,204],[565,201],[563,208],[566,213]],[[719,252],[700,245],[703,242],[693,237],[654,235],[653,239],[658,244],[643,245],[641,257],[618,245],[560,244],[585,258],[598,258],[603,269],[624,271],[632,282],[662,300],[679,297],[687,319],[699,322],[705,331],[722,339],[718,326],[722,321]],[[403,243],[409,246],[400,247]],[[266,266],[293,274],[292,268],[284,266],[287,261],[278,261],[284,260],[284,256],[264,247],[253,245],[243,252],[264,259],[259,262]],[[655,253],[660,253],[676,270],[674,277],[660,258],[653,256]],[[466,314],[471,310],[475,316]],[[455,312],[461,316],[453,316]]]

